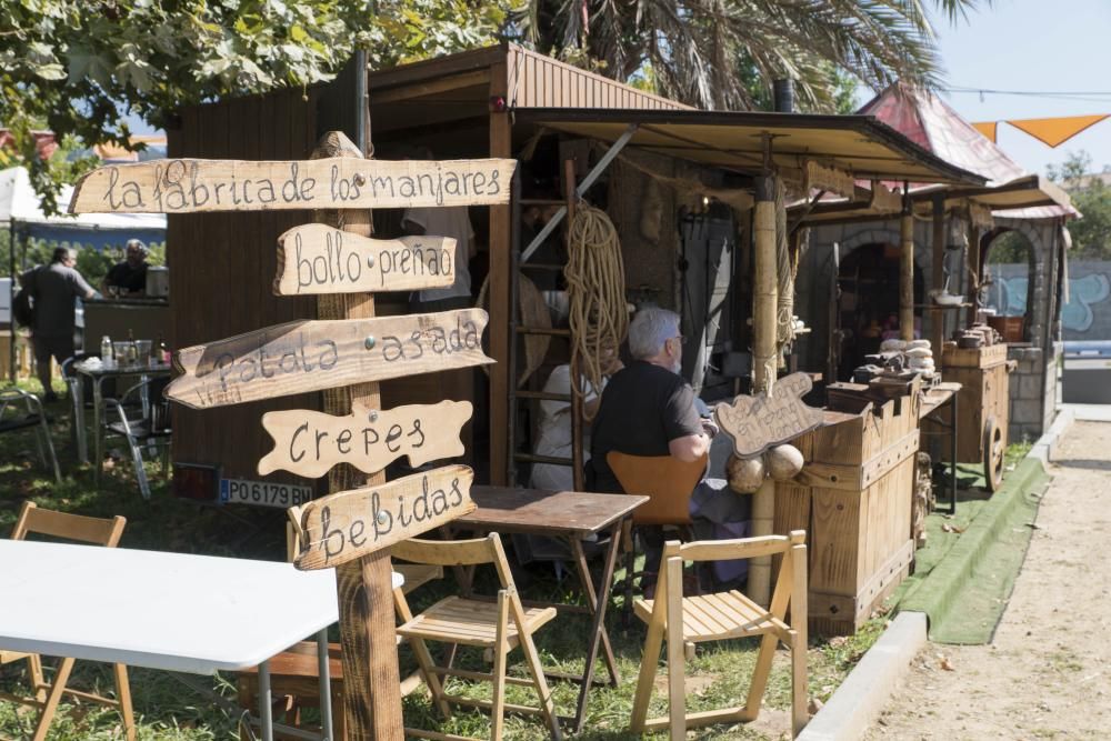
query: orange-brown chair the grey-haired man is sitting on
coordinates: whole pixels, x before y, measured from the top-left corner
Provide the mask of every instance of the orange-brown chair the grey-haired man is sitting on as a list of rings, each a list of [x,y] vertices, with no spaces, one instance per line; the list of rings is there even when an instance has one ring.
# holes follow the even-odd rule
[[[624,492],[648,497],[647,502],[633,510],[632,523],[624,533],[627,617],[629,605],[632,604],[632,582],[637,575],[633,573],[637,557],[633,529],[642,525],[671,525],[684,533],[691,525],[691,494],[705,474],[709,460],[709,453],[690,463],[671,455],[629,455],[615,450],[605,454],[605,462]]]

